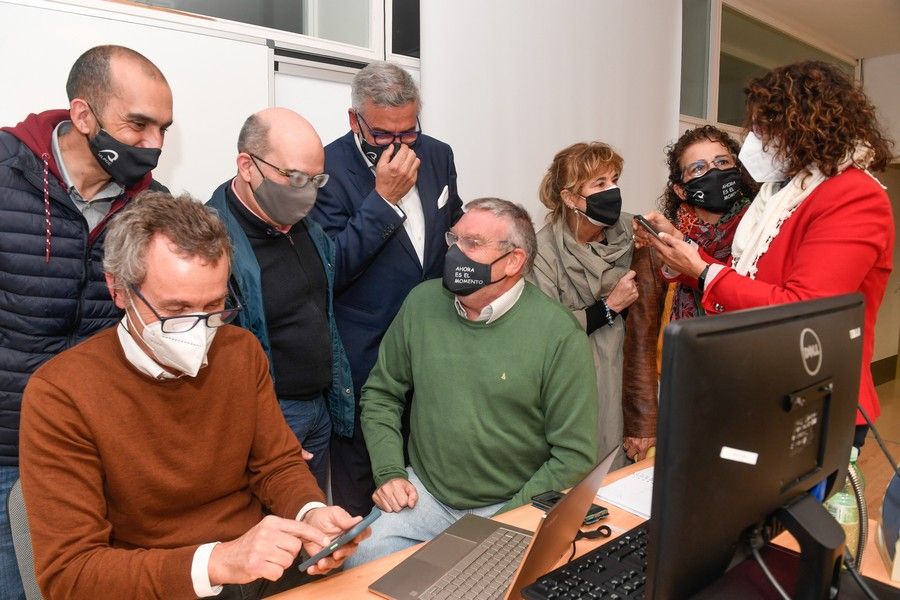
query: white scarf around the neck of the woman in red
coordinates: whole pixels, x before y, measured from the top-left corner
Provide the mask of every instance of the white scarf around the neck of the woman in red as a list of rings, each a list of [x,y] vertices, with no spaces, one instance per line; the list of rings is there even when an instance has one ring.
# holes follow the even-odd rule
[[[838,173],[850,166],[866,169],[874,156],[875,152],[868,144],[859,143],[853,155],[838,166]],[[871,173],[869,176],[875,179]],[[734,270],[756,279],[756,264],[769,250],[769,244],[778,235],[781,225],[827,179],[815,166],[809,166],[794,175],[780,190],[777,182],[764,183],[735,230],[731,244],[731,266]]]

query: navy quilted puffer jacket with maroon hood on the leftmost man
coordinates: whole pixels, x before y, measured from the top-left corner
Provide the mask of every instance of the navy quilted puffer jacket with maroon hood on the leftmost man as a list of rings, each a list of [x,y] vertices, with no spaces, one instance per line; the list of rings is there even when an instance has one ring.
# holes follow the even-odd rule
[[[109,216],[88,231],[53,159],[53,128],[68,118],[68,110],[47,111],[0,132],[0,465],[4,466],[19,461],[19,409],[31,374],[55,354],[121,318],[103,273]],[[148,174],[116,198],[110,216],[151,182]],[[153,187],[164,189],[155,183]]]

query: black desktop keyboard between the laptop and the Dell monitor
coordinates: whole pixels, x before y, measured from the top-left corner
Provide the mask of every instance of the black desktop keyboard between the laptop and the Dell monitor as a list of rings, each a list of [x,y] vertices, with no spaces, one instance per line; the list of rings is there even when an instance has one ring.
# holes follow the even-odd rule
[[[644,597],[647,525],[638,525],[522,590],[528,600]]]

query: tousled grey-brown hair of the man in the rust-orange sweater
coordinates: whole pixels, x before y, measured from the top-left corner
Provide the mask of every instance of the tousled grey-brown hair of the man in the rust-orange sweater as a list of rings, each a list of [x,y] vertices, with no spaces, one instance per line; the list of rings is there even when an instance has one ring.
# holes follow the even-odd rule
[[[103,268],[117,288],[138,286],[147,277],[147,249],[156,234],[166,236],[179,256],[231,263],[228,231],[214,208],[187,194],[145,191],[113,217],[103,243]]]

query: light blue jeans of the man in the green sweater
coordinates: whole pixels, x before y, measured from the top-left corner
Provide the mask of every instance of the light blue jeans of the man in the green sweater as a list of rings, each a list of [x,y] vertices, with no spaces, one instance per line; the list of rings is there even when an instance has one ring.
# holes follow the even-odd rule
[[[428,493],[412,467],[406,467],[406,473],[409,482],[416,486],[419,493],[416,505],[413,508],[404,508],[398,513],[382,513],[381,517],[372,523],[371,537],[364,540],[344,563],[346,568],[367,563],[419,542],[426,542],[467,514],[479,517],[493,516],[506,504],[499,502],[465,510],[450,508]]]

